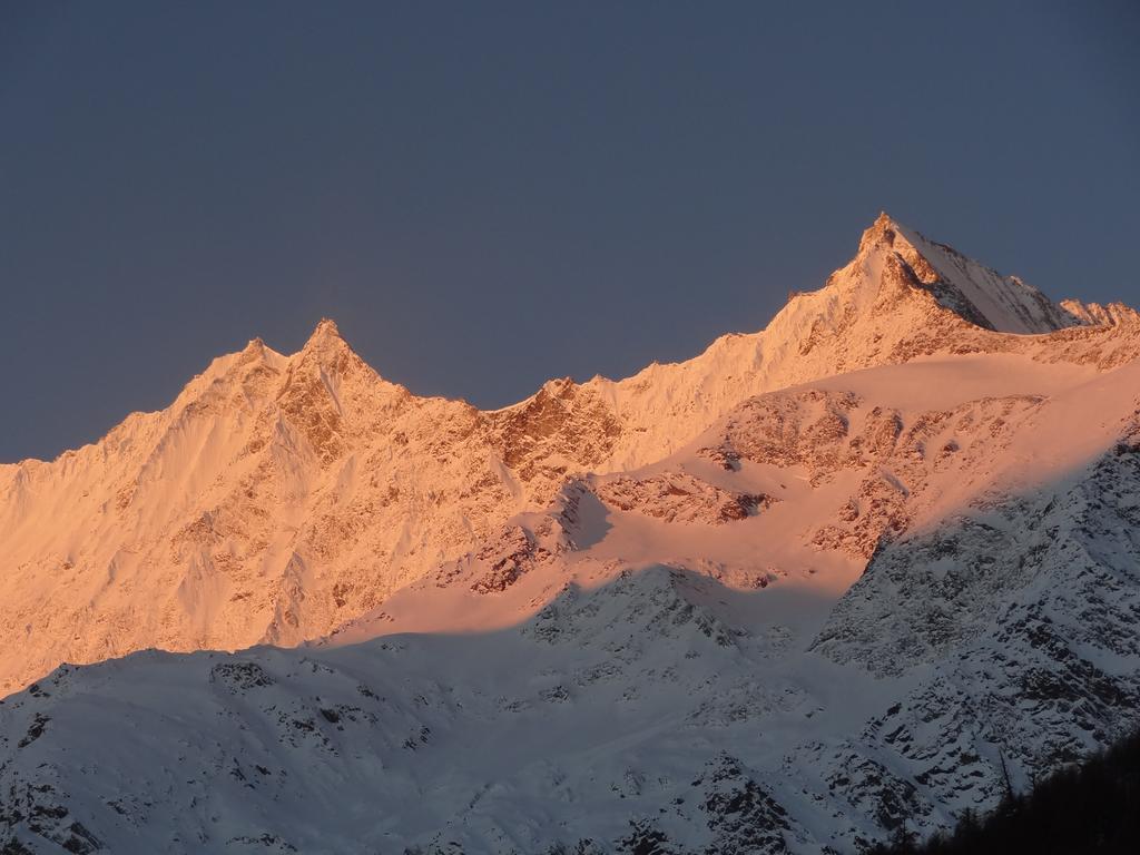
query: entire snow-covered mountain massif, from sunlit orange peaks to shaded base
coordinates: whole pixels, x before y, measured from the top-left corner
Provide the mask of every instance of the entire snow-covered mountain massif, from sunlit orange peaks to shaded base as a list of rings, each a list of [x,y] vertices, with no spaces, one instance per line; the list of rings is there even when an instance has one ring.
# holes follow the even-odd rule
[[[331,321],[251,342],[0,467],[0,841],[853,852],[987,807],[1138,701],[1138,321],[882,215],[763,332],[503,410]],[[154,646],[202,652],[100,661]]]

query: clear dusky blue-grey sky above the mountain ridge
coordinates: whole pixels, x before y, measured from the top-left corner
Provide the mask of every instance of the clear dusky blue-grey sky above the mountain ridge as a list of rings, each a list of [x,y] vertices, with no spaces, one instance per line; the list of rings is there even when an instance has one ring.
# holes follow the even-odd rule
[[[1140,304],[1138,10],[0,2],[0,461],[321,316],[484,407],[683,359],[880,209]]]

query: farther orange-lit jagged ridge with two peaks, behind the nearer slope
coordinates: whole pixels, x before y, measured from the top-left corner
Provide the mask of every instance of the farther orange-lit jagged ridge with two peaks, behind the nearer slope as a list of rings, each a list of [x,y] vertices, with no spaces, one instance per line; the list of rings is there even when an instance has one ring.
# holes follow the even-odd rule
[[[567,478],[649,465],[757,393],[939,356],[1059,374],[1135,356],[1131,310],[1066,307],[883,215],[765,331],[624,381],[552,381],[497,412],[384,381],[331,321],[293,356],[253,341],[165,410],[0,466],[0,690],[149,646],[319,637]]]

